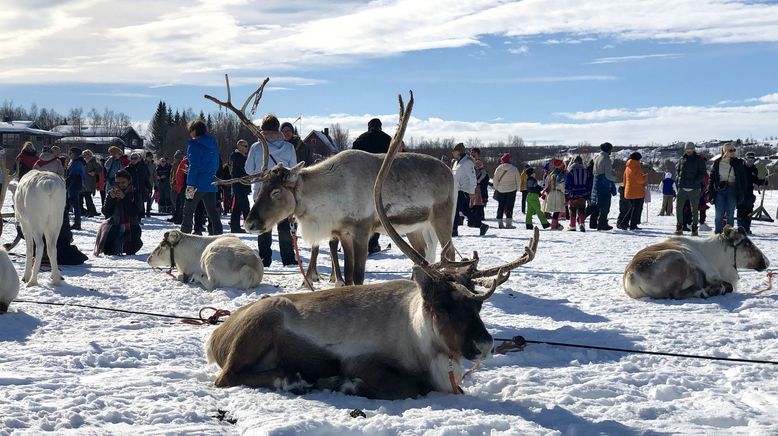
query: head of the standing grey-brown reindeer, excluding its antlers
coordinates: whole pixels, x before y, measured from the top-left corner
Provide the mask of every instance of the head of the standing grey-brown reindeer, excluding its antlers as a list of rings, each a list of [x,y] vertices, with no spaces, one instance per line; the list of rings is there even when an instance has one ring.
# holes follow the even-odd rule
[[[304,162],[292,168],[281,164],[265,173],[262,187],[251,206],[244,226],[249,233],[262,234],[294,213],[297,201],[294,191]]]

